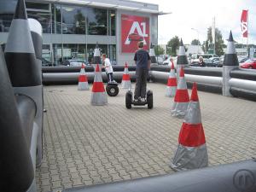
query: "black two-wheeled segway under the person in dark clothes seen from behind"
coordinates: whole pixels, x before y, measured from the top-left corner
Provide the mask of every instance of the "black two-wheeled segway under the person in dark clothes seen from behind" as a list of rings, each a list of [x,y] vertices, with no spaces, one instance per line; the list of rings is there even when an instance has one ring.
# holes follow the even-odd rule
[[[131,90],[128,90],[125,95],[125,106],[130,109],[131,105],[134,106],[144,106],[148,105],[148,109],[153,108],[153,92],[152,90],[147,91],[147,98],[145,102],[138,100],[137,102],[133,99],[133,93]]]

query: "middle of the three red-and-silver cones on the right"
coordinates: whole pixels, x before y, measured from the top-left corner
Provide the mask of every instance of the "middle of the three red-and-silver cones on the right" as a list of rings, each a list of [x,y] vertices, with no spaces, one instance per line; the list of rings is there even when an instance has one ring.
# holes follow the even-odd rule
[[[183,67],[181,67],[177,90],[172,104],[172,116],[183,118],[189,105],[189,92],[187,89],[186,79],[184,77]]]

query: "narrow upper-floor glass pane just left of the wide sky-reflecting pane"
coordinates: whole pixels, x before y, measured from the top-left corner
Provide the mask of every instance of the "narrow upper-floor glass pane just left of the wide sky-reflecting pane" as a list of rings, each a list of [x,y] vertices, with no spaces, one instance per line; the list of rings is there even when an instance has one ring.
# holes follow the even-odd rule
[[[51,9],[53,15],[52,32],[61,34],[61,5],[55,4]]]

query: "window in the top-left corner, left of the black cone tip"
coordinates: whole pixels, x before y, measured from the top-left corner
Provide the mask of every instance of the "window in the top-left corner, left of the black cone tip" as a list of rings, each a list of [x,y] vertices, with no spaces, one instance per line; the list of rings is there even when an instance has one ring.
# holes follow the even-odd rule
[[[17,0],[0,1],[0,32],[9,32],[14,17]]]

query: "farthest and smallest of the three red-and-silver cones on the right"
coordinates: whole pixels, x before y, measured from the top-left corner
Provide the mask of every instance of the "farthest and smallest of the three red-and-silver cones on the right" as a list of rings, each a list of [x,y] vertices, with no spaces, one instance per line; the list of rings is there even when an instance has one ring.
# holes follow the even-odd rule
[[[170,97],[175,96],[176,90],[177,90],[177,77],[176,77],[174,65],[172,62],[172,67],[169,73],[168,82],[166,86],[166,96],[170,96]]]

